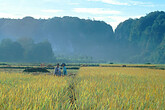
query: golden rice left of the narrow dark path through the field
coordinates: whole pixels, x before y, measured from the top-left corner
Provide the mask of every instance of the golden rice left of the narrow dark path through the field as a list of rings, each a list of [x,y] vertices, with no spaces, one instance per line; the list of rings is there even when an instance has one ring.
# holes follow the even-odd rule
[[[0,73],[0,108],[67,109],[67,77]]]

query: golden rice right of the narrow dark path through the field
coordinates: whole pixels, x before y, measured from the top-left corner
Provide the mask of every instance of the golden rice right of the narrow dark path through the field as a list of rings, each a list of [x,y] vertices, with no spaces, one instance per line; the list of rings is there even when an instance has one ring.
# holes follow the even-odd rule
[[[83,67],[77,76],[80,109],[165,109],[165,71]]]

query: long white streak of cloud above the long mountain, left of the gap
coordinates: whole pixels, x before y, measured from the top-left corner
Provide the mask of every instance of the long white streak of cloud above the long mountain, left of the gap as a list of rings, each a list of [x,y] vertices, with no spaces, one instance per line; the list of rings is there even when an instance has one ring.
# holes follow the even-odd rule
[[[107,10],[103,8],[74,8],[73,11],[88,14],[120,14],[120,11]]]

